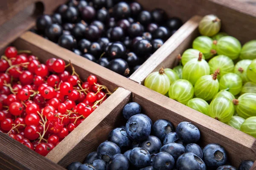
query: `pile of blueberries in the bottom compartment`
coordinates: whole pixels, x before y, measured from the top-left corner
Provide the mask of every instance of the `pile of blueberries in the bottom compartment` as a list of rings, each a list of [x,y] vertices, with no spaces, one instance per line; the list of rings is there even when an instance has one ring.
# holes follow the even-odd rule
[[[68,170],[236,170],[228,164],[227,151],[220,144],[196,144],[200,131],[190,122],[176,127],[166,119],[154,124],[140,105],[125,105],[125,127],[113,129],[108,140],[96,152],[88,154],[84,164],[71,163]],[[239,170],[249,170],[253,161],[242,161]]]

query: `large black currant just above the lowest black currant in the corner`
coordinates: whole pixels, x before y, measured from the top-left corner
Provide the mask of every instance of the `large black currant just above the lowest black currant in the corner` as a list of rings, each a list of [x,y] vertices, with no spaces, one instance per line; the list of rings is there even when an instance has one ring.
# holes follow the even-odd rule
[[[113,42],[108,47],[108,56],[113,58],[123,58],[125,57],[126,48],[121,42]]]

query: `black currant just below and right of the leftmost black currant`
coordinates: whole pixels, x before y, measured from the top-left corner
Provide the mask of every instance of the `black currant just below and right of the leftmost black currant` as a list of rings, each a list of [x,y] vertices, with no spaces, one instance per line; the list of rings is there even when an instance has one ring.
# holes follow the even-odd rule
[[[44,34],[49,40],[57,42],[58,38],[62,35],[62,27],[58,24],[52,24],[45,29]]]

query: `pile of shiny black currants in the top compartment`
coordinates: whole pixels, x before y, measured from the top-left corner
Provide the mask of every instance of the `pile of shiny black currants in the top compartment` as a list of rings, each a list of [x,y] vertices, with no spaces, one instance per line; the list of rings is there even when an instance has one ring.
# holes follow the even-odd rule
[[[182,26],[162,9],[121,0],[70,0],[32,30],[74,53],[128,77]]]

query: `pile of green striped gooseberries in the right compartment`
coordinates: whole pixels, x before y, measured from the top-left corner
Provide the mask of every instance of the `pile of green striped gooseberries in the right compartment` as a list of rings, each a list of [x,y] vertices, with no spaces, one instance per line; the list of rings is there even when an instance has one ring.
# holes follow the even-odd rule
[[[256,138],[256,40],[241,46],[220,28],[205,16],[180,65],[151,73],[145,86]]]

